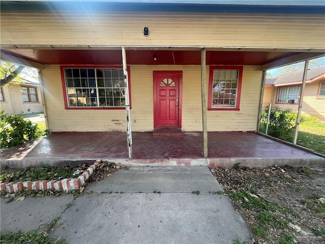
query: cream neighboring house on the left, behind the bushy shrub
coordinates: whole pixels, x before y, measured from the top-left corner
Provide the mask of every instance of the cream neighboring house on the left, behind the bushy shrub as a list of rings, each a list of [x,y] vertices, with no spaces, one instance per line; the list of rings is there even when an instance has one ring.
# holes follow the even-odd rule
[[[0,110],[10,114],[29,114],[43,111],[40,83],[21,74],[20,81],[1,87]]]

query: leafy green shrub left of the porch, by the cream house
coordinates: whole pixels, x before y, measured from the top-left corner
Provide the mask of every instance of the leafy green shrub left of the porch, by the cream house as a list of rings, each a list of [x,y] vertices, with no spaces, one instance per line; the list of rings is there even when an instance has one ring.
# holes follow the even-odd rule
[[[25,141],[42,136],[30,120],[25,120],[22,115],[6,114],[0,112],[0,145],[1,148],[21,145]]]

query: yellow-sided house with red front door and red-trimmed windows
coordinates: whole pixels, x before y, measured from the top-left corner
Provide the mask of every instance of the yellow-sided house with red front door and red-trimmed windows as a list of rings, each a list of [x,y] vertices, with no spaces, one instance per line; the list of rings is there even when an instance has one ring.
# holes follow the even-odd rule
[[[324,55],[324,3],[294,2],[1,1],[1,57],[41,71],[50,132],[126,130],[122,47],[133,131],[202,131],[205,109],[256,131],[263,72]]]

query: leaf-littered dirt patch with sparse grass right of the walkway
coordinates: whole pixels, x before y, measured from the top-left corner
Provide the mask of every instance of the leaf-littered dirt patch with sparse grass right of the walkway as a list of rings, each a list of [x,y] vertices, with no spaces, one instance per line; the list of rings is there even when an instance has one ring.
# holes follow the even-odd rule
[[[278,167],[211,168],[253,243],[325,243],[325,171]]]

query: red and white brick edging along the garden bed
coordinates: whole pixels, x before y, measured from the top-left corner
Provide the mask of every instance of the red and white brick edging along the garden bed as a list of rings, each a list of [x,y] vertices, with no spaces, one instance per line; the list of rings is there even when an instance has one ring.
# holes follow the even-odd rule
[[[96,160],[94,164],[83,171],[78,178],[53,179],[53,180],[37,180],[37,181],[22,181],[22,182],[3,182],[0,184],[1,190],[8,193],[22,192],[23,189],[28,191],[46,191],[46,190],[79,190],[85,185],[89,177],[95,169],[101,164],[102,160]]]

